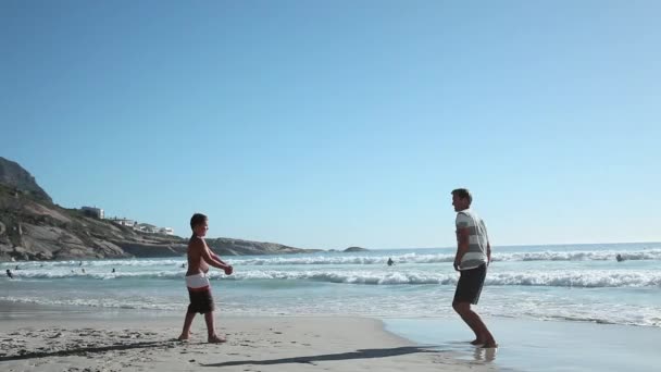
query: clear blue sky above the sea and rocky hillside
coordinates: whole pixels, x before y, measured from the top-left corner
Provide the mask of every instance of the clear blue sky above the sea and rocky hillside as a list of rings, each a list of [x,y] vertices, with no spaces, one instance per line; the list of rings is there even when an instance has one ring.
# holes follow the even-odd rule
[[[0,156],[60,206],[301,248],[661,240],[661,2],[0,1]]]

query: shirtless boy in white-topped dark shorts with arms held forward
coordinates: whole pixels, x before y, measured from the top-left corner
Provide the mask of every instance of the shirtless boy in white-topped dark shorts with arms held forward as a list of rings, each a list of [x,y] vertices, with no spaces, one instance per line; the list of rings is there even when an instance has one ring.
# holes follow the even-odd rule
[[[207,333],[209,343],[224,343],[225,338],[215,333],[213,319],[213,297],[207,272],[209,265],[221,269],[226,275],[232,275],[233,268],[214,255],[204,241],[204,236],[209,230],[208,219],[204,214],[196,213],[190,219],[192,236],[188,241],[188,271],[186,272],[186,286],[190,305],[184,320],[184,330],[178,337],[180,340],[190,337],[190,325],[195,315],[199,312],[204,314],[207,322]]]

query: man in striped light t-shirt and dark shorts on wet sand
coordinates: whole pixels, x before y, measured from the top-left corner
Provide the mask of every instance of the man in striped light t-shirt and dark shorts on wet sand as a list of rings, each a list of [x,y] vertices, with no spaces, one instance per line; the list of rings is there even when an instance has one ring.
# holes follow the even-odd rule
[[[498,347],[494,336],[479,315],[471,310],[477,305],[487,265],[491,262],[491,245],[484,221],[471,210],[473,197],[465,188],[452,190],[452,206],[457,212],[457,255],[454,270],[460,272],[452,308],[475,333],[473,345]]]

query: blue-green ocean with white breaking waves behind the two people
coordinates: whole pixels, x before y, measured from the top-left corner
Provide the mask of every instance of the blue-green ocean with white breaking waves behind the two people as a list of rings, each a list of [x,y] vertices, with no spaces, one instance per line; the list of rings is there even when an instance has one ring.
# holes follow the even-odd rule
[[[212,287],[226,314],[454,318],[453,253],[440,248],[226,257],[235,274],[212,269]],[[615,260],[618,253],[624,261]],[[388,266],[388,258],[396,264]],[[0,301],[184,312],[185,262],[3,262],[0,269],[11,269],[14,280],[0,280]],[[661,327],[659,269],[661,244],[495,247],[477,309],[486,317]]]

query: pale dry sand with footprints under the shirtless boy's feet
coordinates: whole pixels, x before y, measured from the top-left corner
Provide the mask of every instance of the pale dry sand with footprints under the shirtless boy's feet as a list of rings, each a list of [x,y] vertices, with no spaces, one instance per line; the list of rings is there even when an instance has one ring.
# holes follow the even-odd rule
[[[177,342],[182,317],[40,312],[2,318],[3,371],[494,371],[384,331],[367,318],[217,317],[224,344],[208,344],[203,319]]]

